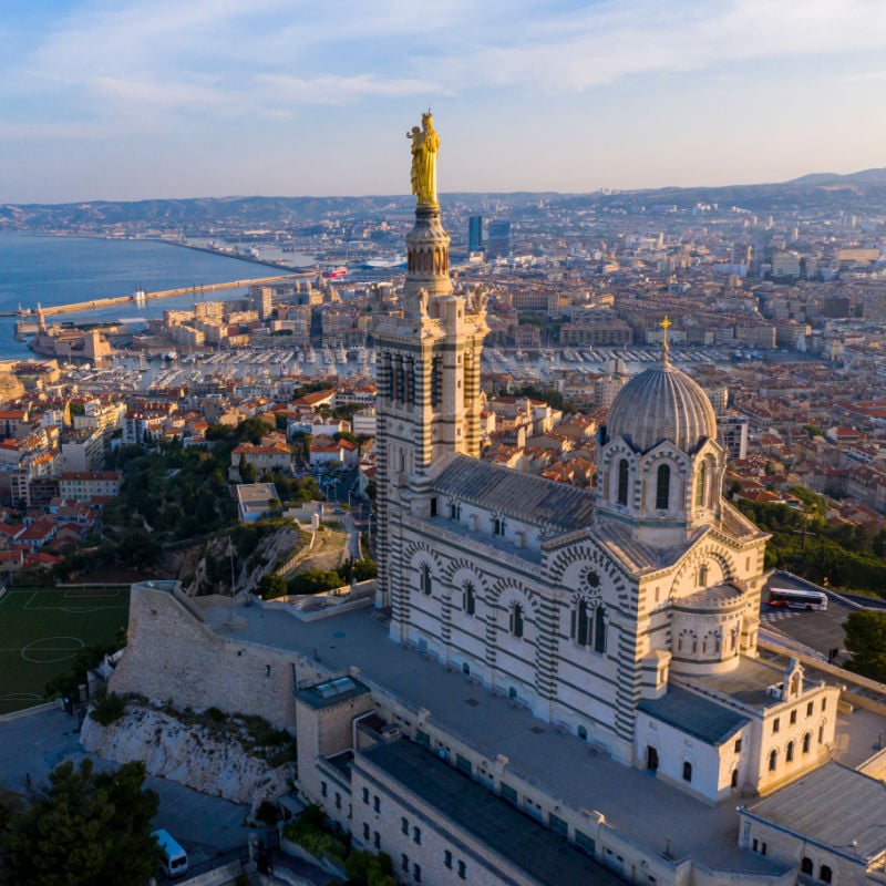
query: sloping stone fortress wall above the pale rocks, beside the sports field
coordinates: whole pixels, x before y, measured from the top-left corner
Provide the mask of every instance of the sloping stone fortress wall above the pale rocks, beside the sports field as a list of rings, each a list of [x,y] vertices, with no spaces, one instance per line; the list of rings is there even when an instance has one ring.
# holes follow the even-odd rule
[[[164,589],[134,585],[128,645],[110,687],[171,699],[175,707],[216,707],[295,729],[296,653],[218,637]]]

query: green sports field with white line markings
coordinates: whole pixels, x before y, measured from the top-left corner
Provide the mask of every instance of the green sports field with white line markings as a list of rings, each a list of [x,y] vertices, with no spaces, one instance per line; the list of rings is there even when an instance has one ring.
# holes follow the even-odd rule
[[[0,597],[0,714],[43,701],[47,681],[128,622],[130,588],[8,589]]]

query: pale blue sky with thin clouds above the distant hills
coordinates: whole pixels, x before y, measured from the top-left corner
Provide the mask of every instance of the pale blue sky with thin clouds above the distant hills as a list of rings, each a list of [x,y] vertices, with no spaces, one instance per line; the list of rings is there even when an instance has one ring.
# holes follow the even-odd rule
[[[886,165],[884,0],[2,0],[0,202],[776,182]]]

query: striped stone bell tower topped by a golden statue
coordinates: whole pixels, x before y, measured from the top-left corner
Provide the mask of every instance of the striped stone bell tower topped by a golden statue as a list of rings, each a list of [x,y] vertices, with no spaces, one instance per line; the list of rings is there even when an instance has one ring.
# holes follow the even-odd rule
[[[487,332],[482,293],[456,292],[450,236],[436,199],[440,138],[430,111],[412,141],[415,224],[406,234],[399,310],[377,315],[378,535],[380,606],[393,606],[391,535],[398,514],[433,516],[431,468],[449,455],[480,455],[480,360]]]

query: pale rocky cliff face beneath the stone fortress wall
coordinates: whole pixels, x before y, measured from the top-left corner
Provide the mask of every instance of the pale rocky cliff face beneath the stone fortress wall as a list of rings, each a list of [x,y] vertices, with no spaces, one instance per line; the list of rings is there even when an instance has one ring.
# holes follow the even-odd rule
[[[293,763],[271,766],[247,751],[230,732],[186,724],[150,708],[130,707],[125,717],[103,727],[87,717],[80,742],[86,751],[116,763],[142,760],[152,775],[162,775],[203,794],[249,804],[291,790]]]

